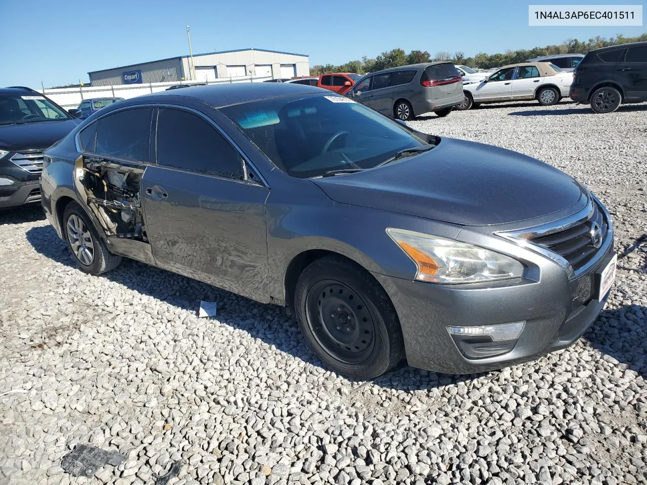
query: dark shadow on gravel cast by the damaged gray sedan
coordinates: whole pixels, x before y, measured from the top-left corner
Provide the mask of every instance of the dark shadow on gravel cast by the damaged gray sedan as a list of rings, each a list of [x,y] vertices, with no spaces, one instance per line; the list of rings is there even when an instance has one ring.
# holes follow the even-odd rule
[[[27,240],[41,255],[66,266],[77,267],[67,244],[58,239],[52,227],[30,228],[26,234]],[[124,259],[118,268],[99,277],[189,312],[197,313],[201,299],[217,301],[217,318],[224,325],[243,330],[278,350],[317,367],[323,367],[307,347],[305,339],[298,331],[296,320],[285,316],[281,307],[263,305],[215,286],[130,259]],[[241,308],[245,310],[241,312]],[[627,305],[616,310],[605,310],[583,338],[591,342],[595,349],[628,365],[643,378],[647,378],[646,322],[646,307]],[[415,391],[466,382],[488,374],[494,376],[497,372],[450,375],[415,369],[403,364],[372,382],[379,387]]]

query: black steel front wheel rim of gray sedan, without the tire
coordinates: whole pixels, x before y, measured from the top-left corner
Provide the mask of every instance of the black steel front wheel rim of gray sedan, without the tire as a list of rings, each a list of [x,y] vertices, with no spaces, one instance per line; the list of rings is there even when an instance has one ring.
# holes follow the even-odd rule
[[[336,360],[358,363],[373,350],[375,324],[362,297],[339,281],[319,281],[308,292],[307,323]]]

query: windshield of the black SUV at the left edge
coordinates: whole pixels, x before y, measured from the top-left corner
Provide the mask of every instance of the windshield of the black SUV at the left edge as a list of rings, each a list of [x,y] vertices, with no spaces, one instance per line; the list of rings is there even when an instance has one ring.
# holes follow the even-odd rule
[[[69,116],[39,94],[0,95],[0,125],[69,120]]]

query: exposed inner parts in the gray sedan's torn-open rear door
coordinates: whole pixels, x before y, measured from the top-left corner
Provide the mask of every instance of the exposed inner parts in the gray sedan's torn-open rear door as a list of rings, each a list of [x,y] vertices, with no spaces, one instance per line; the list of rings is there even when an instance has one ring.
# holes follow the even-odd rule
[[[89,159],[77,161],[76,173],[78,188],[107,236],[148,242],[139,195],[142,169]]]

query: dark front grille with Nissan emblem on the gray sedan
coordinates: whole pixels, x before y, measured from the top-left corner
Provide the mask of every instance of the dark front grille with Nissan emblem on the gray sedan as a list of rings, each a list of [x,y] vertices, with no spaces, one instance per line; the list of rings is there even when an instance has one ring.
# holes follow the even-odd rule
[[[593,233],[596,228],[600,230],[597,248],[593,242]],[[563,257],[571,264],[573,271],[577,272],[595,257],[608,230],[608,221],[604,218],[598,204],[594,202],[593,211],[589,217],[579,221],[575,226],[560,232],[540,235],[531,241]]]

